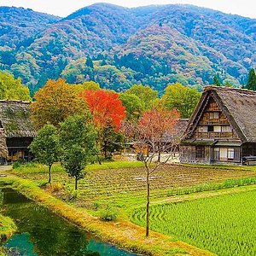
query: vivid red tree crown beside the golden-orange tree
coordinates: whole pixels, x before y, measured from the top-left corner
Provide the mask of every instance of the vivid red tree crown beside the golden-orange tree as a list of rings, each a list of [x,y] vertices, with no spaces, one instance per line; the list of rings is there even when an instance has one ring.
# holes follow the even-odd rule
[[[110,90],[84,90],[80,94],[86,100],[97,128],[102,129],[109,123],[119,130],[125,119],[125,107],[119,95]]]

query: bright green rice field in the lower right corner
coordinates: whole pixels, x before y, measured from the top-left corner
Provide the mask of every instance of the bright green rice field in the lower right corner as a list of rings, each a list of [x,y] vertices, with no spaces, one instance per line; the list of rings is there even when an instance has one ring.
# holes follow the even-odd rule
[[[256,255],[256,189],[150,208],[151,230],[221,256]],[[144,208],[131,214],[144,226]]]

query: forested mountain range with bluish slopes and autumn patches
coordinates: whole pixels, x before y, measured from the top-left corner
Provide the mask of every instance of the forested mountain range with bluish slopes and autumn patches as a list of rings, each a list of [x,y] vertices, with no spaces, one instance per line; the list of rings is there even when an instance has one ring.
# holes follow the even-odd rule
[[[256,66],[255,39],[256,20],[191,5],[96,3],[64,19],[0,8],[0,68],[32,92],[60,76],[113,90],[143,83],[163,92],[172,82],[200,88],[214,75],[238,86]]]

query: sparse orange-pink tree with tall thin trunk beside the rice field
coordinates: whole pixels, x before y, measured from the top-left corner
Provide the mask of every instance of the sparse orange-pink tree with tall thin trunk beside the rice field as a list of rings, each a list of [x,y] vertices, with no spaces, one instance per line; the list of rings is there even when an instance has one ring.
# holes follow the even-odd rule
[[[137,122],[127,121],[122,130],[140,152],[140,160],[143,161],[146,171],[147,200],[146,200],[146,236],[149,231],[149,202],[150,202],[150,176],[160,166],[165,164],[175,152],[177,141],[175,140],[175,126],[180,119],[176,109],[166,110],[155,108],[143,113]],[[148,147],[145,154],[144,148]],[[164,161],[160,161],[160,152],[166,151],[168,155]],[[158,160],[151,165],[155,157]]]

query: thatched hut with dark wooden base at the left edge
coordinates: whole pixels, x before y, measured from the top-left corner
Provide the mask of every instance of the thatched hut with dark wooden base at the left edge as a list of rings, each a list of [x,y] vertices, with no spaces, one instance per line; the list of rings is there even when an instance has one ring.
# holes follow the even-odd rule
[[[6,160],[30,160],[32,157],[28,146],[36,135],[36,129],[30,119],[30,103],[0,101],[0,150]],[[3,149],[5,146],[8,152]]]

